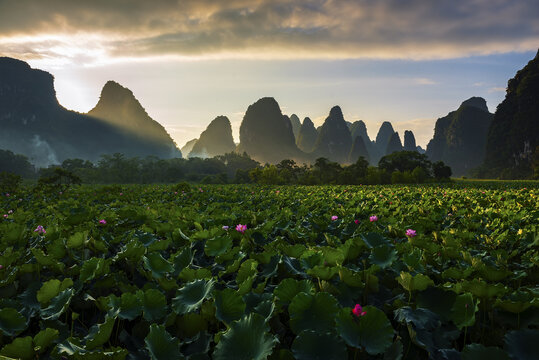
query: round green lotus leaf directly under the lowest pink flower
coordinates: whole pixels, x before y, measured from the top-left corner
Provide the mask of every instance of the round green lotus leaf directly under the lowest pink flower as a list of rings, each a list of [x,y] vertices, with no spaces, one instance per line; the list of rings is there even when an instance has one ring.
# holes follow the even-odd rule
[[[356,317],[351,308],[343,308],[337,315],[337,332],[352,347],[364,348],[376,355],[393,343],[393,328],[386,314],[374,306],[365,306],[364,316]]]

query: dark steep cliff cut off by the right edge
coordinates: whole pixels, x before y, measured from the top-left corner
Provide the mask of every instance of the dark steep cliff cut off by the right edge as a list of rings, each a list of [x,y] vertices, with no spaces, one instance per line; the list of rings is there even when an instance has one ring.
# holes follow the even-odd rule
[[[489,177],[527,178],[539,159],[539,52],[507,83],[487,134]],[[536,170],[539,173],[539,170]]]

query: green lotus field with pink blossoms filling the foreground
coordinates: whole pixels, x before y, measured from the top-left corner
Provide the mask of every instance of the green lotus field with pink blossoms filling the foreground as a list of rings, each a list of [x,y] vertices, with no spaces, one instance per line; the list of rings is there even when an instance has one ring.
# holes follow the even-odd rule
[[[0,198],[0,355],[539,359],[537,184]]]

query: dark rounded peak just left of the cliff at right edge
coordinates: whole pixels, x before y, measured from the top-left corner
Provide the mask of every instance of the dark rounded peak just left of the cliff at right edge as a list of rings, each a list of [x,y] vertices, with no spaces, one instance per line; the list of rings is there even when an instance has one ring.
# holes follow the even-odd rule
[[[491,121],[484,99],[464,101],[457,110],[436,121],[427,156],[449,165],[454,176],[467,175],[483,162]]]

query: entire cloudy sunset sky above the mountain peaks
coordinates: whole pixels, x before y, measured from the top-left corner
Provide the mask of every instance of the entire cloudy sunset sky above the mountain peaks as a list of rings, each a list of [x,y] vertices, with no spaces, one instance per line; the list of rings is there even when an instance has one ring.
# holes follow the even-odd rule
[[[537,0],[0,0],[0,56],[51,72],[81,112],[116,80],[180,146],[218,115],[238,141],[263,96],[317,124],[340,105],[371,138],[391,121],[424,146],[465,99],[495,110],[538,19]]]

